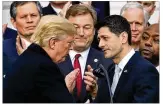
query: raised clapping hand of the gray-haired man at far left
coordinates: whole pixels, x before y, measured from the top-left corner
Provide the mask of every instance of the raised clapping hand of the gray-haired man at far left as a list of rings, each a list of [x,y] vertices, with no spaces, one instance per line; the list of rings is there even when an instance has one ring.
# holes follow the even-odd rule
[[[21,55],[26,50],[25,42],[21,40],[21,43],[20,43],[20,40],[21,40],[20,36],[18,35],[16,38],[16,50],[19,55]]]

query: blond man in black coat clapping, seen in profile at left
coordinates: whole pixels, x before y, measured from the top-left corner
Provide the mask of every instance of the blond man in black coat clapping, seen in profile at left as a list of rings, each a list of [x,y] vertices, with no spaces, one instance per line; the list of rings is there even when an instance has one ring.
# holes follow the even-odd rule
[[[76,29],[64,18],[40,20],[31,44],[13,64],[3,86],[4,103],[69,103],[78,69],[62,75],[56,63],[64,61]],[[64,98],[60,98],[64,97]]]

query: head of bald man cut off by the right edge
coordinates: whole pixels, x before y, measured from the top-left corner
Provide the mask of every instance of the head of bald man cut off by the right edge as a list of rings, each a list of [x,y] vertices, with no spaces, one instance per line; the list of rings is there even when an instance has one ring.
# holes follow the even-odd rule
[[[140,40],[140,54],[150,61],[159,71],[160,27],[152,24],[144,30]]]

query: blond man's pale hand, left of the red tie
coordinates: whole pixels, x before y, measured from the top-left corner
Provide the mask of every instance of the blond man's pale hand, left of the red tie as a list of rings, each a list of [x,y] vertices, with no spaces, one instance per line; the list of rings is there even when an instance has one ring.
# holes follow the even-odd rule
[[[76,85],[76,78],[78,73],[79,73],[79,69],[75,69],[65,77],[65,83],[70,93],[73,93],[73,90]]]

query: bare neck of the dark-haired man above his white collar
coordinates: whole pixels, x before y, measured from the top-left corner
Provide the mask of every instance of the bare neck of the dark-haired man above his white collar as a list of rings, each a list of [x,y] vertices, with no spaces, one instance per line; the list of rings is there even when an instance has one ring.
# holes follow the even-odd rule
[[[114,57],[114,63],[119,64],[120,61],[131,51],[131,49],[132,47],[130,45],[122,47],[122,50]]]

